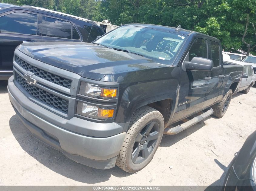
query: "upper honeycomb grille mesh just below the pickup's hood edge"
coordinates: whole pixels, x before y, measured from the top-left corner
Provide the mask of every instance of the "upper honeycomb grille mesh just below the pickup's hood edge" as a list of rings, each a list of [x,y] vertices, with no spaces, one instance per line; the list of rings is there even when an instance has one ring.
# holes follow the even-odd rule
[[[43,78],[47,81],[53,82],[55,84],[61,85],[65,88],[70,89],[72,80],[69,80],[67,78],[63,78],[61,76],[58,76],[56,74],[52,74],[51,72],[47,72],[45,70],[42,70],[40,68],[37,68],[35,66],[32,66],[22,60],[20,57],[15,56],[15,61],[18,65],[20,65],[23,69],[33,72],[36,76]]]

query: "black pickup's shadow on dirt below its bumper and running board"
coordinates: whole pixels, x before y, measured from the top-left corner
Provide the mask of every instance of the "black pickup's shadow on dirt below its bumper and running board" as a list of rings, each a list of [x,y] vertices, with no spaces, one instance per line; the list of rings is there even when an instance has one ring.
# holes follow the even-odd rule
[[[25,152],[50,170],[72,180],[94,184],[108,181],[111,175],[115,177],[132,175],[119,169],[117,166],[108,170],[98,170],[72,161],[61,152],[33,138],[17,115],[11,117],[9,126],[12,134]],[[164,135],[160,147],[169,147],[203,126],[205,126],[205,123],[201,121],[177,135]]]

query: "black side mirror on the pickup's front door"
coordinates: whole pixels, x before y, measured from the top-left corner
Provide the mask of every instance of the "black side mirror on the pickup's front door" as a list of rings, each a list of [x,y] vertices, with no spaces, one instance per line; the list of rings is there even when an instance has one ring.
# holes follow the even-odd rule
[[[211,71],[213,68],[213,61],[207,58],[194,57],[190,62],[185,61],[186,70],[203,70]]]

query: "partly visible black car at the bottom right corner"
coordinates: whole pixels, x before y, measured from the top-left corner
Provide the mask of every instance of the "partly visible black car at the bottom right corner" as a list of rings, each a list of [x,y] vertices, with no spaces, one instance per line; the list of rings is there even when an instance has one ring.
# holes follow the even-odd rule
[[[235,155],[224,179],[224,191],[256,190],[256,131]]]

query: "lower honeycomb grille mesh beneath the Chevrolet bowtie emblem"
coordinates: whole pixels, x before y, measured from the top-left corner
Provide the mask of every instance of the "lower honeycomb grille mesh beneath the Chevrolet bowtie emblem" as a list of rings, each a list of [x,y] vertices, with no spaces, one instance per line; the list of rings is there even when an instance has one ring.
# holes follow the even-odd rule
[[[27,91],[30,95],[41,100],[42,102],[55,107],[58,110],[68,113],[68,100],[65,100],[61,97],[58,97],[54,94],[51,94],[41,88],[32,86],[26,82],[22,76],[15,72],[16,81]]]

